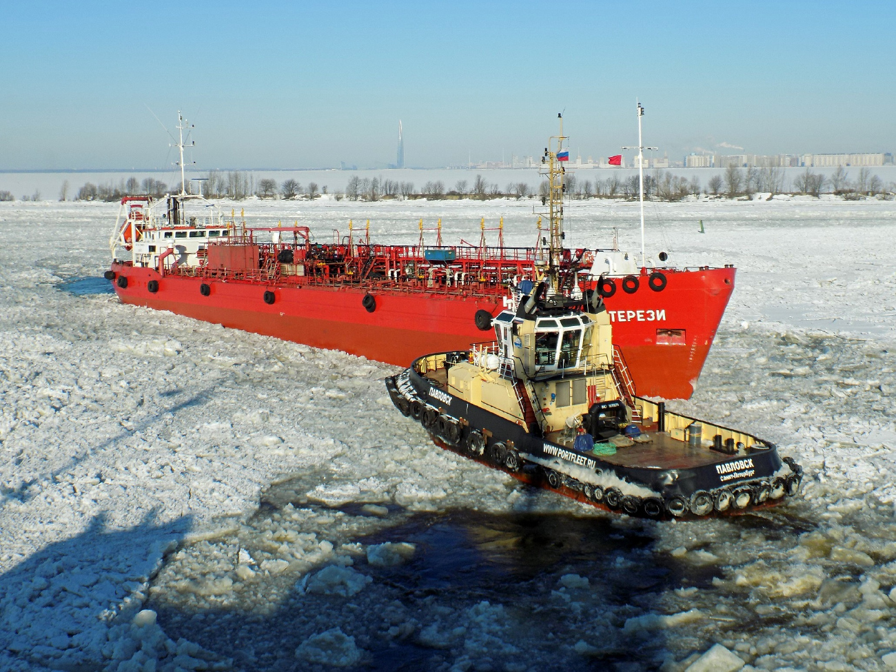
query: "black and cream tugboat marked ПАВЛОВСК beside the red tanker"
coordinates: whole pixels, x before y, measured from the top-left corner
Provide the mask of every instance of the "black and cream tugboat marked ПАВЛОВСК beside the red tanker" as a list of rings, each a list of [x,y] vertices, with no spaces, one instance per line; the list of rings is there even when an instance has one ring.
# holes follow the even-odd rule
[[[556,154],[562,131],[551,140]],[[547,177],[553,194],[560,175]],[[775,444],[636,394],[603,297],[564,292],[553,213],[551,228],[544,277],[513,288],[496,342],[426,355],[386,378],[396,408],[444,448],[608,511],[699,518],[797,495],[803,470]]]

